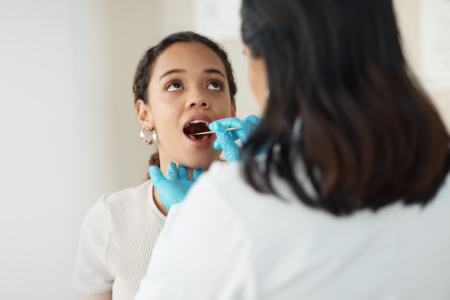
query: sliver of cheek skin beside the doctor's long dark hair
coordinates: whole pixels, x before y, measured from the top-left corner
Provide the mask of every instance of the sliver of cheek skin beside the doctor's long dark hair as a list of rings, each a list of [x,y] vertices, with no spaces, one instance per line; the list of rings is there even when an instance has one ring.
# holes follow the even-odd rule
[[[244,49],[244,54],[247,57],[247,77],[250,88],[252,89],[256,102],[258,102],[262,111],[265,111],[268,100],[267,91],[269,90],[266,61],[262,56],[257,58],[253,57],[250,48],[247,46]]]

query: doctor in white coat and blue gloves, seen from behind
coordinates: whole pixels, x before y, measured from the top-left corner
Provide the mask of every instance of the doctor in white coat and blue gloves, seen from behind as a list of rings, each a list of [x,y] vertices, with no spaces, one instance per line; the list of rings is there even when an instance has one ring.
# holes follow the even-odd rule
[[[211,124],[244,146],[186,197],[151,170],[184,201],[136,299],[450,299],[449,135],[392,1],[244,0],[242,38],[264,118]]]

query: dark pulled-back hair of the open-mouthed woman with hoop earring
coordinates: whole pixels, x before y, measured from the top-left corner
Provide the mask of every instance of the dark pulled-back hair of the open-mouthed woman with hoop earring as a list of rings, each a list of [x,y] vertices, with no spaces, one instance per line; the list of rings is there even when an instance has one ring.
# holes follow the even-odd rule
[[[210,40],[209,38],[197,34],[192,31],[182,31],[173,33],[165,37],[156,46],[151,47],[145,52],[142,59],[136,68],[136,73],[134,75],[133,81],[133,93],[134,93],[134,104],[136,105],[139,99],[142,99],[145,104],[148,104],[148,86],[150,83],[150,78],[152,75],[152,68],[154,61],[158,56],[167,48],[176,43],[202,43],[203,45],[209,47],[213,50],[220,58],[225,66],[228,88],[230,92],[231,102],[235,102],[235,97],[237,93],[237,86],[234,80],[234,72],[231,66],[230,60],[225,50],[216,42]],[[156,165],[160,167],[159,153],[154,153],[149,160],[149,165]],[[147,180],[150,179],[150,175],[147,172]]]

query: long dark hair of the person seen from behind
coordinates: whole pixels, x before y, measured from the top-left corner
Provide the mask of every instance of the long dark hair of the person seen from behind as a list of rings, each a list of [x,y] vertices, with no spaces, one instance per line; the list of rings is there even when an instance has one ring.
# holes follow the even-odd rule
[[[242,148],[249,184],[276,194],[276,173],[301,202],[338,216],[433,199],[450,169],[449,135],[406,63],[391,0],[243,0],[241,15],[270,88]]]

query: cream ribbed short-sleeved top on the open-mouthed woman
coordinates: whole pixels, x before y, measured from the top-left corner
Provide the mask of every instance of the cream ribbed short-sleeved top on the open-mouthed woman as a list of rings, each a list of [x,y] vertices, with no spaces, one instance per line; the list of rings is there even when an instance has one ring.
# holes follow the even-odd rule
[[[84,294],[112,290],[131,300],[166,217],[153,200],[153,185],[107,194],[86,215],[81,229],[73,287]]]

